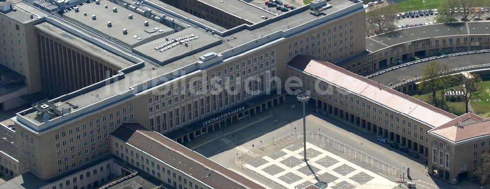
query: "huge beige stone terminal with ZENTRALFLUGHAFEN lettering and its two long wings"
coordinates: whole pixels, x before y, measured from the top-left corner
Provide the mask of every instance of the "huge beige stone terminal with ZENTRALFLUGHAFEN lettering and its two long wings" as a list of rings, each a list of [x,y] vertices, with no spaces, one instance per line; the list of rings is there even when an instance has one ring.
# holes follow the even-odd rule
[[[36,178],[38,188],[109,188],[141,177],[155,188],[262,188],[181,144],[284,103],[291,76],[332,116],[432,157],[431,141],[441,136],[431,129],[457,117],[373,83],[357,67],[342,69],[373,56],[365,9],[356,0],[319,3],[285,13],[215,0],[1,4],[1,22],[12,30],[4,35],[21,36],[17,25],[4,24],[19,13],[29,20],[20,27],[32,31],[22,36],[36,44],[26,45],[35,53],[24,62],[38,74],[32,92],[52,96],[12,118],[24,179],[8,186]],[[16,60],[5,62],[16,71]],[[328,94],[317,94],[317,85]],[[173,157],[193,168],[184,170]],[[100,165],[127,171],[90,182],[72,178]],[[447,180],[459,174],[440,169]]]

